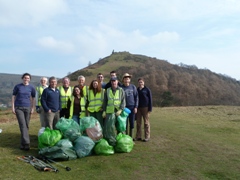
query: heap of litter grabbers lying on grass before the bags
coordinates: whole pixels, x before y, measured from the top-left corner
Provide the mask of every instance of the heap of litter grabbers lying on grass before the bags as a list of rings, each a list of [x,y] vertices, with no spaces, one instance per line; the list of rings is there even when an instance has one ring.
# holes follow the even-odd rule
[[[34,156],[19,156],[19,160],[31,164],[35,169],[39,171],[50,171],[50,172],[59,172],[57,168],[51,164],[45,163],[40,159],[35,158]]]

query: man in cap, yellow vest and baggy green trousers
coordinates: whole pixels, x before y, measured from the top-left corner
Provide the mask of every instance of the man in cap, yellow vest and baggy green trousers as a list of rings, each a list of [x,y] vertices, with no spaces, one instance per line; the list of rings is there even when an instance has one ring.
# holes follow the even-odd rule
[[[117,77],[111,78],[112,86],[105,91],[102,117],[106,118],[103,126],[103,136],[111,146],[116,145],[117,117],[126,106],[125,93],[118,86]]]

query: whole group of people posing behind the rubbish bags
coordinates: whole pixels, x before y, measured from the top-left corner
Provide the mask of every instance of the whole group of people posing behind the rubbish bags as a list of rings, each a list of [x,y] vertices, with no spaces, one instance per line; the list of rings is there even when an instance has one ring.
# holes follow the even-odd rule
[[[103,136],[106,131],[119,133],[116,125],[117,117],[124,108],[130,110],[127,120],[126,134],[133,138],[134,122],[137,130],[133,138],[135,141],[149,141],[150,123],[149,114],[152,111],[151,91],[144,84],[144,79],[138,79],[138,87],[131,84],[132,76],[125,73],[121,82],[115,71],[110,72],[110,81],[105,83],[102,73],[97,74],[97,79],[85,84],[85,77],[78,76],[78,84],[70,86],[70,79],[64,77],[62,85],[57,86],[57,79],[52,76],[42,77],[40,85],[34,88],[30,84],[31,75],[22,75],[23,82],[17,84],[12,94],[12,112],[16,114],[21,132],[21,150],[30,149],[28,134],[30,116],[39,113],[41,127],[55,129],[60,118],[73,119],[78,124],[81,118],[92,116],[96,118],[102,129]],[[49,85],[48,85],[49,81]],[[142,139],[142,118],[144,120],[144,138]]]

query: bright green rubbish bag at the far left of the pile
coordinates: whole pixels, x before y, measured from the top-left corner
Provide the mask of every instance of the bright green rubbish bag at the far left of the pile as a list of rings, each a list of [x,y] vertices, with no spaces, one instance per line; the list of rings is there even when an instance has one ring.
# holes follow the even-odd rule
[[[62,134],[59,130],[52,130],[49,127],[46,127],[44,132],[38,136],[38,148],[52,147],[60,139],[62,139]]]

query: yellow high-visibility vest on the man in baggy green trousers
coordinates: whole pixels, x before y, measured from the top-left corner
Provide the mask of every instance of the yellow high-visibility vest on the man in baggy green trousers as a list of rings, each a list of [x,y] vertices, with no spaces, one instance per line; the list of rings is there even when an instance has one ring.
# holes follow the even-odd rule
[[[115,95],[113,95],[112,89],[108,88],[107,89],[107,107],[106,107],[106,113],[114,113],[114,109],[119,110],[120,109],[120,104],[121,104],[121,93],[120,89],[116,90]]]

